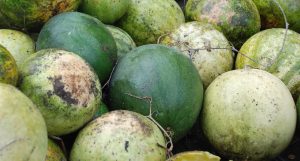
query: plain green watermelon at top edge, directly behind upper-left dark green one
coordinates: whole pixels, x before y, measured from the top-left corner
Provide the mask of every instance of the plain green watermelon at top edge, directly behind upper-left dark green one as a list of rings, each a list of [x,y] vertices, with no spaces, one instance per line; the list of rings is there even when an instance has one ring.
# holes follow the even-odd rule
[[[82,0],[80,11],[98,18],[105,24],[113,24],[128,10],[131,0]]]

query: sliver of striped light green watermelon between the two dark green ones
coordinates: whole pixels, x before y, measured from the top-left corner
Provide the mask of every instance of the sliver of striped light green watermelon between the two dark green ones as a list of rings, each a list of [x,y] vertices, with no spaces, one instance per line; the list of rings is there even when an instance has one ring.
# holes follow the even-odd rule
[[[111,32],[116,41],[118,49],[118,59],[120,59],[122,56],[136,47],[135,42],[124,30],[111,25],[106,25],[106,28]]]

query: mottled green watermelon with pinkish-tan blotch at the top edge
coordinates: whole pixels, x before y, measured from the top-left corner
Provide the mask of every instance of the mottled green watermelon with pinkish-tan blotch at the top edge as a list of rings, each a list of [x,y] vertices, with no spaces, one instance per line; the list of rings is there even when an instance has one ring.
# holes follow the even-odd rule
[[[259,32],[260,16],[252,0],[189,0],[186,18],[215,24],[237,48]]]

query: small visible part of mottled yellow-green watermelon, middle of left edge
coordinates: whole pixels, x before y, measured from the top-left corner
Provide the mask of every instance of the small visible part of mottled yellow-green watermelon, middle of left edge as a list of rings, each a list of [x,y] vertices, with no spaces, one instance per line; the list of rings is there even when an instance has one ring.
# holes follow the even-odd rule
[[[9,51],[0,45],[0,83],[16,85],[18,81],[17,64]]]

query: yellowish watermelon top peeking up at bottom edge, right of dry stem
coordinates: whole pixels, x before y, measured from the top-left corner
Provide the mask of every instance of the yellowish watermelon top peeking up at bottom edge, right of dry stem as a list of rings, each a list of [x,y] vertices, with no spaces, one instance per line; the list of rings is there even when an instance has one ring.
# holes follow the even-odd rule
[[[220,161],[221,158],[204,151],[187,151],[178,153],[167,161]]]

